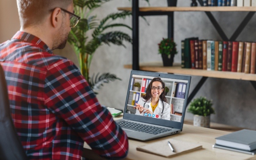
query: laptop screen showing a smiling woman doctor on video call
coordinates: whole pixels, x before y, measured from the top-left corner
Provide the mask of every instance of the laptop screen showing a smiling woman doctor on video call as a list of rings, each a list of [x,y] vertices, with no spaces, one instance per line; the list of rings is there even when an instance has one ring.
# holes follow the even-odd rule
[[[132,71],[124,115],[153,124],[183,123],[190,79],[190,76]]]

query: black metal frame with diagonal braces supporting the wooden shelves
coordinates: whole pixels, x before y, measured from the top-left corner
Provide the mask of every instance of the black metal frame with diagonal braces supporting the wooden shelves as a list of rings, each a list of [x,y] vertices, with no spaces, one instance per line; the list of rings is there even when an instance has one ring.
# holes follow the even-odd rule
[[[201,6],[203,6],[203,0],[197,0]],[[168,7],[177,6],[177,0],[167,0]],[[132,0],[132,39],[133,39],[133,45],[132,45],[132,69],[133,70],[139,70],[139,16],[153,16],[153,15],[167,15],[168,16],[168,38],[173,38],[174,33],[174,12],[166,12],[166,11],[150,11],[150,12],[140,12],[139,11],[139,0]],[[241,24],[237,27],[236,31],[233,33],[233,35],[228,38],[225,34],[225,32],[220,27],[217,20],[214,18],[211,12],[205,12],[205,14],[208,16],[209,20],[212,22],[212,25],[219,33],[220,37],[223,41],[235,41],[236,38],[240,35],[240,33],[243,31],[245,26],[248,24],[248,22],[252,19],[252,16],[255,14],[255,12],[248,12],[248,14],[245,16],[244,20],[241,22]],[[196,93],[199,91],[199,89],[202,87],[204,82],[208,79],[208,77],[202,77],[201,80],[198,82],[194,90],[190,93],[188,96],[187,105],[189,102],[194,98]],[[250,81],[253,88],[256,91],[256,81]]]

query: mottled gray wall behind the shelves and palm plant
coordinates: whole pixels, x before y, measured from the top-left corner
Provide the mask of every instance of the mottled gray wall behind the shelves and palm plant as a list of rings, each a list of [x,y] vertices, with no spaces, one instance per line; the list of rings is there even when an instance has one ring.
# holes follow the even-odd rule
[[[189,6],[191,1],[178,0],[178,6]],[[151,0],[151,6],[167,6],[166,0]],[[98,18],[108,13],[117,12],[117,7],[131,6],[128,0],[113,0],[104,4],[100,10],[95,11]],[[140,6],[147,6],[140,0]],[[18,13],[16,2],[4,0],[0,2],[0,42],[12,37],[19,29]],[[7,14],[8,13],[8,14]],[[248,12],[213,12],[214,17],[219,21],[221,28],[230,37],[236,27]],[[167,17],[148,16],[147,23],[140,18],[140,62],[161,61],[157,54],[157,44],[163,37],[167,36]],[[244,28],[238,41],[256,41],[256,16]],[[131,17],[119,22],[132,25]],[[198,36],[199,39],[221,40],[213,28],[210,20],[204,12],[175,12],[174,13],[174,41],[178,44],[178,55],[174,61],[180,63],[180,41],[191,36]],[[131,31],[120,28],[129,34]],[[95,53],[90,74],[110,72],[122,78],[122,81],[110,82],[100,90],[97,95],[102,105],[123,109],[131,69],[125,69],[124,64],[132,63],[132,45],[125,43],[126,48],[120,46],[101,46]],[[77,64],[76,56],[69,45],[62,51],[56,50],[55,54],[68,57]],[[199,76],[192,76],[190,92],[201,79]],[[256,129],[256,91],[249,81],[208,78],[196,97],[206,96],[213,100],[213,107],[216,114],[211,116],[212,122],[229,124],[249,129]],[[186,119],[192,119],[193,115],[186,113]]]

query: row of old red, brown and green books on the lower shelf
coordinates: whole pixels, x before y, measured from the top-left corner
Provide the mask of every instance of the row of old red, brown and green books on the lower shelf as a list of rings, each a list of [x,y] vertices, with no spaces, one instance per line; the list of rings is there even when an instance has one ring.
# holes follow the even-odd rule
[[[238,41],[181,41],[181,67],[255,74],[256,43]]]

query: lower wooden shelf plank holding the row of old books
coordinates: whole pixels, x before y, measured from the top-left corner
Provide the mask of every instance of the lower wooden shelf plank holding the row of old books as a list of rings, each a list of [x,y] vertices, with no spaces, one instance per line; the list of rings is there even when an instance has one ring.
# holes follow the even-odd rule
[[[132,65],[124,65],[124,68],[131,69]],[[180,75],[190,75],[190,76],[205,76],[205,77],[213,77],[213,78],[227,78],[227,79],[256,81],[256,74],[181,68],[180,64],[174,64],[172,67],[163,67],[163,64],[161,62],[140,64],[140,70],[173,73],[173,74],[180,74]]]

